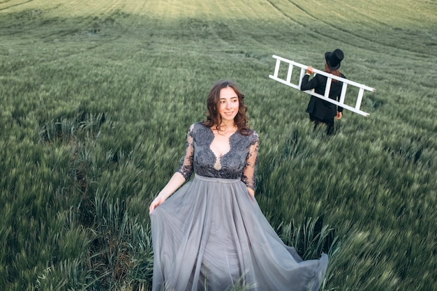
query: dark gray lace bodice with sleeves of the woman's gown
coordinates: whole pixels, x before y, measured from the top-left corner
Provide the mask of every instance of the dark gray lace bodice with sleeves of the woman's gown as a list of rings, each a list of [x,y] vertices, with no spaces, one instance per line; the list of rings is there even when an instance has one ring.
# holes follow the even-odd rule
[[[238,131],[229,138],[230,150],[216,157],[211,150],[214,133],[200,122],[190,126],[186,151],[177,172],[189,179],[195,172],[204,177],[242,179],[247,187],[255,190],[258,166],[258,134],[242,135]],[[219,161],[217,161],[219,159]],[[219,163],[216,163],[219,162]]]

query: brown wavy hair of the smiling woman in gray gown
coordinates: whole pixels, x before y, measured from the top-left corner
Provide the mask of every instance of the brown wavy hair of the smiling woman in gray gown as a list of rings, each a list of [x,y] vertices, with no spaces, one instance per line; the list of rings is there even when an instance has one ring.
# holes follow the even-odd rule
[[[209,128],[215,127],[217,130],[219,129],[221,124],[221,116],[218,113],[220,90],[227,87],[234,89],[238,96],[239,108],[237,115],[234,118],[235,125],[237,126],[239,133],[242,135],[250,135],[252,130],[249,128],[249,118],[246,114],[247,106],[244,105],[244,94],[239,91],[237,84],[230,80],[219,80],[212,85],[207,98],[207,112],[205,113],[207,119],[202,121],[202,124]]]

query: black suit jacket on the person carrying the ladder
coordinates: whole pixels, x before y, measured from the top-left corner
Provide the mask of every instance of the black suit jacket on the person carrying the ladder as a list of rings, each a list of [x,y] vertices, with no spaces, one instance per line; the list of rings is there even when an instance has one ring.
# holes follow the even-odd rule
[[[345,75],[343,74],[341,74],[341,77],[346,79]],[[323,75],[317,74],[310,81],[309,75],[304,75],[300,89],[302,91],[314,89],[316,93],[325,95],[326,82],[327,77]],[[331,89],[329,90],[329,98],[338,101],[340,99],[342,87],[343,82],[332,82]],[[335,104],[329,103],[312,95],[309,99],[308,107],[306,107],[306,112],[313,114],[313,116],[320,120],[336,117],[337,111],[343,112],[343,107],[337,107]]]

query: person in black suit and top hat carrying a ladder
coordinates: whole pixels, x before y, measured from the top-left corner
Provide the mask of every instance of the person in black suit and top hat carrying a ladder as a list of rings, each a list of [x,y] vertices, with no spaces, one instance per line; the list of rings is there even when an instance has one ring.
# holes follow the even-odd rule
[[[334,50],[334,52],[325,52],[325,72],[346,79],[346,77],[339,71],[343,57],[343,52],[339,49]],[[327,77],[323,75],[315,75],[313,79],[309,81],[309,76],[312,73],[313,68],[308,67],[306,74],[302,78],[300,89],[302,91],[314,89],[316,93],[325,95]],[[339,100],[341,87],[343,87],[343,82],[332,79],[329,98]],[[316,96],[311,96],[306,112],[309,113],[309,119],[314,123],[314,129],[316,129],[318,124],[323,123],[327,125],[327,134],[332,135],[332,133],[334,133],[334,117],[336,117],[336,119],[341,119],[341,116],[343,115],[343,107],[337,107],[333,103],[322,100]]]

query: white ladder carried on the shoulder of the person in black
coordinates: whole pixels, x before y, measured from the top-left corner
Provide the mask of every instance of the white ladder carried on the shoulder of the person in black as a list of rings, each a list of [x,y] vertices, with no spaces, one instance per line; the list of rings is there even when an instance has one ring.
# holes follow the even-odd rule
[[[292,88],[298,89],[300,90],[300,85],[302,84],[302,78],[305,75],[305,71],[308,68],[308,66],[296,63],[295,61],[290,61],[289,59],[284,59],[283,57],[278,57],[273,55],[273,58],[276,59],[276,66],[274,67],[274,75],[269,75],[269,78],[278,81],[282,84],[286,84],[287,86],[290,86]],[[287,76],[286,79],[283,80],[280,77],[278,77],[279,75],[279,68],[281,66],[281,61],[288,64],[288,71],[287,71]],[[298,84],[292,84],[292,69],[293,66],[297,66],[300,68],[300,76],[299,76],[299,83]],[[355,112],[357,114],[361,114],[364,117],[368,117],[369,113],[364,112],[362,110],[360,110],[360,106],[361,106],[361,101],[363,98],[363,94],[364,94],[364,90],[367,91],[372,91],[374,92],[375,89],[371,88],[371,87],[367,87],[366,85],[357,83],[357,82],[353,82],[350,81],[348,79],[345,79],[343,77],[337,77],[336,75],[332,75],[326,72],[323,72],[322,70],[317,70],[317,69],[313,69],[313,72],[316,74],[320,74],[320,75],[324,75],[327,77],[327,82],[326,82],[326,87],[325,87],[325,94],[321,95],[321,94],[317,94],[316,92],[314,92],[313,90],[306,90],[304,91],[305,93],[311,94],[313,96],[316,96],[318,98],[321,98],[323,100],[326,100],[330,103],[334,103],[335,105],[339,105],[347,110],[350,110],[352,112]],[[334,80],[339,80],[341,82],[343,82],[343,87],[341,89],[341,95],[340,95],[340,101],[337,100],[333,100],[329,98],[329,89],[331,89],[331,83],[332,83],[332,79]],[[350,86],[355,86],[357,88],[359,88],[358,91],[358,96],[357,96],[357,100],[355,102],[355,107],[349,106],[344,104],[344,99],[346,97],[346,89],[348,88],[348,85]]]

